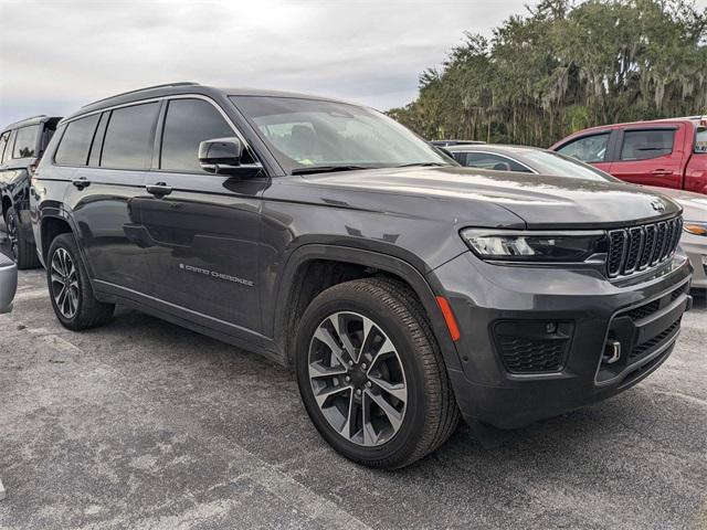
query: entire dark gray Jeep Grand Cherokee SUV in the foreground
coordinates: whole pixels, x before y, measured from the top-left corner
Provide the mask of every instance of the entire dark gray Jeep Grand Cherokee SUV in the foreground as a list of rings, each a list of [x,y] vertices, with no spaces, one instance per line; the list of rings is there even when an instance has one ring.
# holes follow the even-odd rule
[[[292,365],[373,467],[608,398],[690,307],[680,209],[611,182],[465,169],[367,107],[158,86],[59,126],[32,220],[68,329],[124,304]]]

